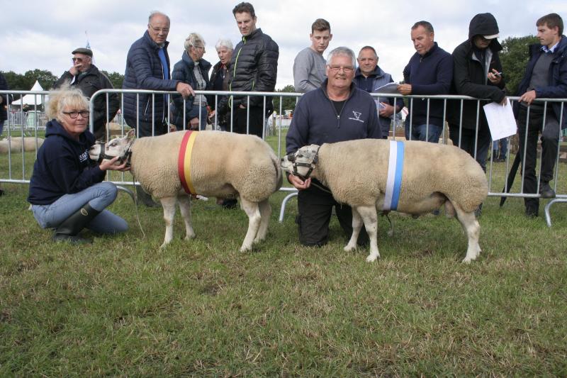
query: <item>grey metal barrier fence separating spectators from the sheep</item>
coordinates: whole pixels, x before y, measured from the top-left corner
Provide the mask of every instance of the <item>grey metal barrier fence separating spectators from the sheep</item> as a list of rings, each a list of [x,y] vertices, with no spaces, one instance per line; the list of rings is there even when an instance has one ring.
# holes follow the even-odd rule
[[[47,95],[49,94],[48,91],[40,91],[40,92],[35,92],[35,91],[2,91],[2,94],[8,94],[8,95],[13,95],[14,99],[18,99],[19,98],[23,98],[23,96],[28,95],[28,94],[33,94],[33,95]],[[152,109],[152,116],[151,116],[151,126],[152,126],[152,133],[155,133],[156,130],[156,126],[157,125],[157,118],[155,117],[155,112],[154,109],[156,108],[156,101],[160,101],[160,98],[163,99],[164,96],[165,99],[168,99],[169,96],[175,96],[177,93],[176,92],[170,92],[170,91],[149,91],[149,90],[123,90],[123,89],[105,89],[105,90],[101,90],[101,91],[97,91],[91,98],[90,100],[90,111],[91,114],[94,113],[94,100],[96,99],[97,96],[105,96],[105,101],[106,101],[106,109],[108,109],[108,102],[109,102],[109,96],[111,96],[111,94],[118,94],[118,96],[120,96],[120,109],[124,109],[124,94],[130,94],[130,95],[134,95],[136,98],[136,105],[137,105],[137,110],[140,109],[140,106],[144,106],[145,109]],[[231,92],[231,91],[196,91],[196,94],[203,94],[203,95],[207,95],[208,96],[208,101],[210,105],[213,105],[214,109],[219,109],[220,104],[223,101],[223,98],[226,98],[226,96],[228,96],[228,98],[230,98],[230,96],[240,96],[240,97],[245,97],[246,99],[246,103],[249,104],[250,99],[253,96],[262,96],[262,111],[263,114],[268,115],[269,112],[267,111],[269,109],[269,107],[267,106],[267,99],[271,98],[271,99],[279,99],[279,109],[275,109],[275,113],[271,114],[270,116],[266,116],[266,118],[264,119],[264,125],[262,127],[262,138],[266,139],[266,138],[273,138],[273,137],[277,137],[276,138],[276,155],[278,155],[278,157],[281,157],[285,152],[284,151],[284,140],[283,137],[287,131],[287,128],[289,127],[289,124],[291,123],[291,118],[293,116],[283,116],[283,113],[286,109],[283,109],[283,99],[286,99],[288,97],[292,97],[293,99],[296,99],[296,101],[298,100],[298,98],[301,96],[301,94],[298,93],[285,93],[285,92],[274,92],[274,93],[267,93],[267,92]],[[140,96],[148,96],[147,97],[147,102],[145,104],[140,104]],[[448,104],[449,101],[460,101],[461,105],[460,105],[460,109],[461,109],[461,124],[460,127],[462,129],[462,113],[463,113],[463,105],[464,105],[464,101],[465,100],[471,100],[471,101],[476,101],[477,104],[477,112],[476,112],[476,126],[477,126],[477,130],[476,130],[476,138],[478,139],[478,115],[480,112],[480,107],[481,102],[483,100],[479,100],[479,99],[473,99],[472,97],[468,97],[468,96],[452,96],[452,95],[446,95],[446,96],[402,96],[400,94],[371,94],[371,96],[375,97],[376,99],[378,99],[378,97],[386,97],[386,98],[393,98],[394,99],[394,106],[396,104],[398,104],[398,101],[400,101],[400,104],[403,104],[404,101],[408,101],[408,103],[411,105],[412,101],[427,101],[427,114],[426,114],[426,119],[427,119],[427,123],[429,123],[430,120],[430,103],[433,100],[437,100],[437,101],[443,101],[443,118],[446,118],[447,116],[447,109],[448,109]],[[41,98],[44,99],[44,96],[35,96],[35,98]],[[517,97],[508,97],[509,101],[517,101]],[[551,106],[551,104],[561,104],[561,116],[560,116],[560,125],[561,125],[561,121],[563,120],[563,117],[567,116],[567,112],[563,112],[563,109],[565,108],[565,103],[567,102],[567,99],[537,99],[536,102],[543,104],[544,109],[547,109],[548,106]],[[188,121],[188,114],[186,113],[186,109],[185,109],[185,105],[186,105],[186,100],[183,100],[183,111],[182,111],[182,123],[184,125],[184,127],[182,129],[186,129],[187,126],[189,126],[189,122]],[[202,104],[196,104],[199,107],[201,107]],[[7,148],[7,175],[5,172],[5,168],[6,168],[6,164],[3,162],[0,164],[0,182],[6,182],[6,183],[18,183],[18,184],[28,184],[29,183],[29,178],[31,175],[30,169],[26,169],[26,154],[23,153],[26,150],[26,143],[24,138],[26,137],[26,135],[31,136],[32,138],[35,138],[35,143],[28,143],[28,145],[32,145],[32,150],[33,151],[37,151],[39,145],[40,145],[40,137],[43,135],[42,131],[45,130],[45,115],[42,111],[42,106],[43,106],[43,101],[36,101],[35,104],[33,104],[33,118],[31,118],[33,121],[29,121],[30,120],[30,111],[26,112],[23,111],[22,109],[16,110],[14,109],[13,111],[9,111],[9,113],[11,114],[11,116],[9,116],[9,119],[6,121],[5,126],[4,126],[4,133],[3,136],[9,138],[8,140],[8,148]],[[168,125],[171,125],[171,118],[172,118],[172,112],[174,111],[174,109],[172,109],[172,102],[171,101],[167,101],[167,104],[165,104],[164,109],[166,109],[167,107],[167,112],[165,112],[165,118],[167,121]],[[248,108],[249,109],[249,108]],[[411,109],[411,106],[410,106]],[[228,131],[232,131],[234,128],[234,116],[233,116],[233,112],[232,111],[228,111],[228,114],[230,116],[228,116],[228,118],[226,119],[226,130]],[[412,116],[413,113],[410,111],[410,113],[408,113],[407,118],[410,119],[410,123],[412,122]],[[528,114],[529,116],[529,114]],[[216,130],[218,128],[220,128],[221,126],[221,121],[220,118],[218,117],[218,114],[213,113],[212,117],[208,117],[207,113],[200,111],[198,113],[198,120],[199,120],[199,125],[202,125],[204,123],[203,117],[208,118],[208,121],[210,122],[210,126],[208,126],[209,128],[212,128],[213,130]],[[395,117],[391,117],[391,129],[390,129],[390,133],[388,135],[388,138],[391,139],[395,139],[395,138],[403,138],[404,135],[404,128],[403,125],[400,125],[400,120],[397,120]],[[247,110],[247,126],[246,126],[246,131],[247,133],[249,133],[249,121],[250,121],[250,117],[249,117],[249,110]],[[136,120],[136,124],[135,125],[130,125],[130,126],[134,126],[135,128],[137,128],[138,132],[139,132],[139,125],[140,120],[137,119]],[[545,119],[543,121],[545,123]],[[127,123],[125,122],[125,119],[123,118],[123,114],[118,111],[118,113],[116,114],[116,116],[114,115],[110,115],[110,114],[106,114],[106,124],[108,126],[109,123],[115,123],[115,125],[113,125],[115,128],[110,128],[107,127],[106,129],[106,138],[113,138],[113,136],[115,135],[124,135],[125,134],[125,130],[127,130],[129,128],[129,126],[127,125]],[[94,131],[94,120],[91,117],[91,122],[90,122],[90,130]],[[170,128],[170,130],[174,130],[174,127]],[[567,144],[563,143],[561,144],[561,142],[563,141],[564,137],[563,135],[565,135],[567,130],[562,130],[561,134],[558,135],[558,139],[560,140],[560,143],[558,144],[558,153],[557,153],[557,159],[556,159],[556,164],[555,164],[555,172],[554,172],[554,190],[558,191],[558,187],[557,187],[557,183],[561,182],[561,179],[564,180],[563,177],[558,177],[558,165],[560,163],[560,158],[561,161],[563,161],[563,155],[566,155],[566,159],[567,159]],[[14,135],[16,138],[21,138],[21,143],[16,143],[14,142],[14,138],[12,138],[12,135]],[[442,130],[442,134],[441,137],[439,139],[439,143],[449,143],[449,135],[447,135],[447,126],[443,128]],[[507,138],[507,141],[509,142],[508,145],[510,145],[510,141],[512,138]],[[273,142],[273,140],[272,140]],[[476,140],[476,142],[478,142],[478,140]],[[13,144],[18,145],[18,148],[15,150],[13,148]],[[525,145],[526,143],[524,143]],[[0,152],[2,146],[0,145]],[[491,150],[491,149],[490,149]],[[489,185],[489,196],[505,196],[505,197],[521,197],[521,198],[527,198],[527,197],[532,197],[532,198],[537,198],[539,197],[539,192],[536,194],[527,194],[523,192],[523,183],[524,183],[524,177],[522,176],[522,184],[520,185],[520,191],[517,192],[510,192],[510,187],[508,187],[507,185],[505,186],[505,191],[508,191],[507,193],[503,193],[502,191],[500,191],[500,188],[495,188],[495,184],[494,182],[498,182],[503,181],[503,182],[508,182],[508,180],[510,179],[509,177],[509,172],[510,172],[510,153],[511,153],[511,149],[509,148],[507,150],[507,154],[505,157],[505,176],[504,177],[497,177],[497,173],[496,173],[496,169],[495,168],[495,159],[493,156],[490,156],[490,159],[487,162],[487,178],[488,178],[488,185]],[[491,154],[492,155],[492,154]],[[525,156],[525,154],[524,154]],[[13,165],[15,162],[14,158],[17,158],[18,161],[21,161],[21,174],[16,174],[16,170],[13,169]],[[30,158],[32,157],[27,157],[27,160],[30,160]],[[33,155],[33,158],[35,158],[35,154]],[[0,159],[4,160],[1,156]],[[2,161],[0,160],[0,161]],[[541,160],[541,151],[538,152],[538,157],[537,160],[540,161]],[[523,162],[522,162],[523,163]],[[19,164],[18,164],[19,165]],[[3,167],[4,166],[4,167]],[[29,162],[28,162],[28,166]],[[523,164],[522,164],[523,166]],[[500,169],[501,170],[501,169]],[[540,175],[541,175],[541,165],[539,166],[539,170],[537,172],[537,183],[539,184],[539,180],[540,180]],[[7,177],[6,177],[7,176]],[[120,180],[116,180],[113,179],[111,180],[112,182],[114,182],[115,184],[118,185],[131,185],[133,184],[133,182],[126,182],[124,180],[124,174],[121,174],[121,179]],[[288,196],[286,196],[285,199],[283,199],[282,205],[281,205],[281,211],[280,211],[280,221],[283,220],[283,214],[286,208],[286,204],[288,202],[289,199],[291,199],[293,196],[296,196],[297,191],[295,188],[293,187],[283,187],[281,188],[281,191],[286,191],[286,192],[290,192],[290,194],[288,194]],[[556,204],[558,202],[567,202],[567,194],[563,194],[563,193],[557,193],[556,194],[556,199],[549,201],[549,203],[546,205],[544,211],[545,211],[545,217],[546,217],[546,222],[548,224],[548,226],[551,226],[551,216],[549,215],[549,208],[551,205]]]

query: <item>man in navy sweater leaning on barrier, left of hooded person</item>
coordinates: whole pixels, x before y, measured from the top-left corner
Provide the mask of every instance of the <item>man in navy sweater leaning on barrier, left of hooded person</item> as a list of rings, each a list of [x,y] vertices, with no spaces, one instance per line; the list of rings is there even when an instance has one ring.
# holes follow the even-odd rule
[[[453,79],[453,58],[434,41],[431,23],[418,21],[412,26],[415,54],[403,70],[404,84],[398,92],[409,94],[449,94]],[[405,118],[405,138],[438,143],[444,126],[444,101],[409,99],[410,113]],[[410,123],[411,121],[411,123]]]

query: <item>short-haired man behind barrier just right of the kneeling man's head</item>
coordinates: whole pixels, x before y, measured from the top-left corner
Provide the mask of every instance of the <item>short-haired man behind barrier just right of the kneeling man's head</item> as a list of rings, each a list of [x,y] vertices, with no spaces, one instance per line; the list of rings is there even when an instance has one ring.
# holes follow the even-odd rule
[[[364,46],[360,49],[357,58],[359,67],[354,72],[354,84],[360,89],[368,93],[377,93],[379,88],[388,83],[393,83],[391,74],[383,72],[378,67],[378,54],[371,46]],[[376,109],[378,109],[378,121],[382,130],[382,138],[388,139],[390,133],[392,116],[403,108],[403,99],[395,100],[394,97],[373,97],[376,101]],[[395,107],[394,107],[395,106]]]

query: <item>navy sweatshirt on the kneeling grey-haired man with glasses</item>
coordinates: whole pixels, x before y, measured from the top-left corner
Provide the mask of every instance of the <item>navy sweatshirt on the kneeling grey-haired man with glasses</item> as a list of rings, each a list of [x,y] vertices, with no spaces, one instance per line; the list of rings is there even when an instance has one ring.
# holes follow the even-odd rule
[[[337,113],[327,96],[327,82],[299,99],[286,136],[288,154],[304,145],[382,138],[374,99],[351,84],[349,98]]]

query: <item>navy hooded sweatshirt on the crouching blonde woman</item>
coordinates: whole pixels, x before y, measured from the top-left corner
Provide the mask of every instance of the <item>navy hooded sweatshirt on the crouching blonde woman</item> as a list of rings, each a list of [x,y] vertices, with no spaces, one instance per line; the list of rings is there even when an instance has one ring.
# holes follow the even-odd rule
[[[82,191],[101,182],[106,172],[89,160],[94,135],[86,130],[74,140],[55,119],[47,123],[45,141],[33,165],[28,202],[48,205],[64,194]]]

